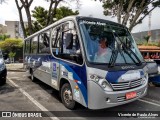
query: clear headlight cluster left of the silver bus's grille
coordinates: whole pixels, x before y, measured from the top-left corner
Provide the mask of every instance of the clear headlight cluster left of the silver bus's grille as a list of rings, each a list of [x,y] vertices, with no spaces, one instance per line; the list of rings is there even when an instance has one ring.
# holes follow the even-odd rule
[[[96,82],[103,90],[113,91],[105,78],[97,76],[97,75],[90,75],[90,79]]]

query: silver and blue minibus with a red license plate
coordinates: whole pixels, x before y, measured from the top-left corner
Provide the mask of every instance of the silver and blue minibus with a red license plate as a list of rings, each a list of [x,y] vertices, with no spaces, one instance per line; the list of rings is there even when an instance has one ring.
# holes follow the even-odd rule
[[[103,109],[147,93],[146,63],[128,29],[111,21],[70,16],[25,39],[24,65],[58,90],[62,103]]]

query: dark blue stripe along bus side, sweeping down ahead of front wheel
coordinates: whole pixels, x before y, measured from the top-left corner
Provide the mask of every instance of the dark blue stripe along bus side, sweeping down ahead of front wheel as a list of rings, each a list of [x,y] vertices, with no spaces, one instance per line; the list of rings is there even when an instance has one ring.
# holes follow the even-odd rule
[[[39,66],[40,67],[42,65],[42,62],[59,62],[59,64],[62,64],[65,66],[65,68],[69,71],[73,73],[73,78],[75,80],[78,80],[81,82],[81,84],[77,84],[82,92],[82,95],[84,97],[84,100],[86,102],[86,105],[88,105],[88,97],[87,97],[87,75],[86,75],[86,67],[85,65],[83,66],[77,66],[68,62],[63,62],[61,60],[57,60],[55,59],[52,55],[29,55],[28,58],[31,58],[31,63],[34,60],[38,60],[40,58],[39,61]],[[27,62],[28,60],[26,60]]]

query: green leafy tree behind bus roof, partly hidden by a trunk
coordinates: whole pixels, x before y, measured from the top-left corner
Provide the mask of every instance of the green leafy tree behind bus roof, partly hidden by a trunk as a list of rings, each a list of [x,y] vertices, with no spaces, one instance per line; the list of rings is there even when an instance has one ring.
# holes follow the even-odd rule
[[[52,9],[54,11],[54,9]],[[32,11],[32,17],[34,17],[36,19],[36,21],[33,22],[33,28],[34,28],[34,32],[39,31],[40,29],[48,26],[48,20],[46,18],[48,18],[48,10],[45,10],[43,7],[39,6],[39,7],[35,7],[34,10]],[[56,14],[55,14],[55,20],[52,21],[55,22],[56,20],[62,19],[66,16],[70,16],[70,15],[78,15],[79,12],[78,11],[72,11],[72,9],[68,8],[68,7],[60,7],[56,9]]]

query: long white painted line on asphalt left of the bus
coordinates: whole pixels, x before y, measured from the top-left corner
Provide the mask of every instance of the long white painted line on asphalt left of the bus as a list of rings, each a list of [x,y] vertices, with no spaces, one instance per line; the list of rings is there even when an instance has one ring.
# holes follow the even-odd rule
[[[13,82],[10,78],[7,78],[9,80],[9,82],[11,82],[15,87],[17,87],[19,89],[19,91],[25,95],[32,103],[34,103],[39,109],[41,109],[41,111],[46,111],[46,114],[48,116],[53,116],[54,114],[52,114],[51,112],[49,112],[49,110],[47,108],[45,108],[43,105],[41,105],[38,101],[36,101],[32,96],[30,96],[25,90],[23,90],[22,88],[20,88],[15,82]],[[50,117],[52,120],[59,120],[58,117]]]

